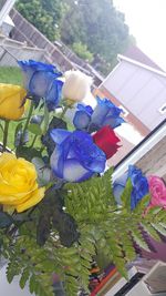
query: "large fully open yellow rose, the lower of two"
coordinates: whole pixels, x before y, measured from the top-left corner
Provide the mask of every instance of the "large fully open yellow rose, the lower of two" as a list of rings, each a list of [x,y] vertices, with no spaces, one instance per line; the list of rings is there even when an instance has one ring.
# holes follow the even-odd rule
[[[23,212],[38,204],[44,192],[44,187],[38,187],[32,163],[7,152],[0,155],[0,204],[4,208]]]

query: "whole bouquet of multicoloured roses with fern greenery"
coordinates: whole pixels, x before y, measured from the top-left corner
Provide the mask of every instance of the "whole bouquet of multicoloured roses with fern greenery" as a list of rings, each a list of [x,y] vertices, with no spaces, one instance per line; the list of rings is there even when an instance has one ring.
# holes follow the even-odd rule
[[[106,160],[120,147],[114,129],[124,120],[107,99],[96,98],[94,110],[83,103],[91,78],[31,60],[19,65],[24,86],[0,84],[0,252],[7,277],[10,283],[19,275],[20,287],[28,282],[39,296],[55,295],[59,284],[68,296],[80,288],[89,293],[98,249],[126,276],[133,242],[148,249],[142,231],[155,239],[166,234],[166,187],[135,166],[112,184]],[[72,125],[68,109],[75,110]],[[14,151],[8,149],[10,121],[18,122]]]

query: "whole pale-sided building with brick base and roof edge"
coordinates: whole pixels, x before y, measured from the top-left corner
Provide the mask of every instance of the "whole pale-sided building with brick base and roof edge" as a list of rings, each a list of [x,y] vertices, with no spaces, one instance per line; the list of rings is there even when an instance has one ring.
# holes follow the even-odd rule
[[[166,118],[166,73],[136,47],[117,59],[98,90],[146,136]]]

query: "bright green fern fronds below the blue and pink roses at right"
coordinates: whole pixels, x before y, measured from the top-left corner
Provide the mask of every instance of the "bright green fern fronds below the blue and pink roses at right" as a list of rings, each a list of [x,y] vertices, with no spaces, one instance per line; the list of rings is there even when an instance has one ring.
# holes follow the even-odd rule
[[[143,229],[154,239],[160,239],[158,233],[165,234],[166,225],[162,221],[166,220],[166,215],[162,208],[144,214],[149,196],[145,196],[131,212],[131,182],[123,193],[123,206],[116,207],[110,173],[81,184],[68,184],[65,205],[77,222],[81,237],[83,235],[94,239],[96,251],[102,249],[120,272],[126,275],[125,263],[136,256],[133,243],[149,251]]]

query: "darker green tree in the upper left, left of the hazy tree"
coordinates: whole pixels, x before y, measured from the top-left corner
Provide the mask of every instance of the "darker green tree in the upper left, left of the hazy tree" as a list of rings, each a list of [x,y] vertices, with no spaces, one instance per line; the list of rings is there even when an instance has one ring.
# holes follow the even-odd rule
[[[65,3],[59,0],[19,0],[17,9],[51,41],[60,38]]]

